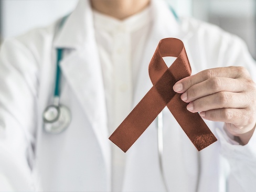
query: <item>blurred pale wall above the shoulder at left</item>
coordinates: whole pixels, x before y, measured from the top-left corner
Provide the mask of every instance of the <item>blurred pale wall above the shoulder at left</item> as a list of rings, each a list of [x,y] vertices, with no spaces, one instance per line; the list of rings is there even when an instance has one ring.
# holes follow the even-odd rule
[[[52,23],[71,12],[77,0],[1,0],[1,3],[1,35],[8,38]]]

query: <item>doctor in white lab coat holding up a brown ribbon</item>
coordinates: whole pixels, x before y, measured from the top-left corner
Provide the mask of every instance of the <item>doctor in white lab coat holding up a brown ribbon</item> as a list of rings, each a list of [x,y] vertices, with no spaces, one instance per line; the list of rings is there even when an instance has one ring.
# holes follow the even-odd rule
[[[148,63],[166,37],[183,40],[194,73],[174,90],[218,142],[198,152],[164,109],[159,162],[156,121],[126,154],[108,137],[152,87]],[[59,102],[72,120],[49,134],[42,114],[54,102],[57,48]],[[255,81],[244,42],[175,18],[164,1],[80,1],[66,20],[1,48],[0,190],[256,191]]]

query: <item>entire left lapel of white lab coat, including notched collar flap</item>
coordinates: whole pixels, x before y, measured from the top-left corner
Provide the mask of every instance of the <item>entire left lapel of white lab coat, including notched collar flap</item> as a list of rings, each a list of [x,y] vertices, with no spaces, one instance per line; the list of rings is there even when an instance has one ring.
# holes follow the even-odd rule
[[[101,146],[106,171],[110,174],[111,153],[104,87],[89,1],[80,1],[68,16],[56,37],[54,47],[68,50],[60,62],[63,78],[66,78],[77,95],[92,125]]]

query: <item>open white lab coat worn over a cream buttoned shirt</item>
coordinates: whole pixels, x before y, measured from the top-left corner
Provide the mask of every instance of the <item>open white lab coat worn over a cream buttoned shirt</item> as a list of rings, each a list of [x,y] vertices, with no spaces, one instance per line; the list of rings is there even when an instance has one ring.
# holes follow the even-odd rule
[[[152,1],[152,7],[154,22],[134,106],[152,86],[148,63],[165,37],[184,41],[193,73],[243,65],[256,80],[255,63],[240,39],[191,18],[176,20],[162,1]],[[14,190],[111,190],[111,133],[88,2],[80,1],[61,29],[59,24],[60,20],[7,40],[1,49],[0,178]],[[60,64],[60,102],[71,110],[72,121],[65,132],[50,135],[43,131],[42,112],[52,103],[57,47],[66,48]],[[256,191],[255,134],[240,146],[225,135],[222,123],[207,121],[219,140],[198,153],[168,109],[163,119],[163,166],[169,191]],[[156,122],[126,153],[123,190],[165,190]]]

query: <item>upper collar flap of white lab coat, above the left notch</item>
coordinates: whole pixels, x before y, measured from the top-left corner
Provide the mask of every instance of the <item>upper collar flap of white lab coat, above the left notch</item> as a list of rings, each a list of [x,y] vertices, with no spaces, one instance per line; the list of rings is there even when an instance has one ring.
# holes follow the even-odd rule
[[[57,31],[54,40],[55,48],[80,49],[86,44],[90,44],[91,37],[94,37],[90,1],[80,0],[74,11],[67,16],[67,19],[60,22]]]

